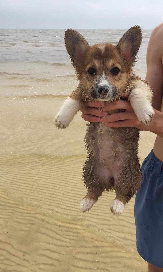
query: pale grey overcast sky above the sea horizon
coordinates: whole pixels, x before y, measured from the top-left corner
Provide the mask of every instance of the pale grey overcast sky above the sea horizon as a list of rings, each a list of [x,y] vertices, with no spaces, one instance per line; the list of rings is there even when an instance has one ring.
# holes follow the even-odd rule
[[[163,0],[0,0],[0,28],[153,29]]]

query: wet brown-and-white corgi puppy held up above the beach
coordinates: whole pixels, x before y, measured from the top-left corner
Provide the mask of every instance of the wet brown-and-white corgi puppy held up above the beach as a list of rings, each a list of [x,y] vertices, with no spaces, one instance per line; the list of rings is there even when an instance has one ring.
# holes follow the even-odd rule
[[[116,46],[107,42],[90,46],[79,32],[66,30],[65,46],[79,85],[55,116],[58,128],[66,128],[88,101],[111,103],[122,97],[128,98],[140,122],[151,121],[152,90],[132,70],[141,41],[139,26],[124,33]],[[111,212],[123,212],[141,183],[138,139],[136,128],[109,128],[101,122],[88,124],[85,136],[88,157],[83,168],[87,194],[80,204],[82,212],[92,208],[104,190],[113,189],[116,197],[111,203]]]

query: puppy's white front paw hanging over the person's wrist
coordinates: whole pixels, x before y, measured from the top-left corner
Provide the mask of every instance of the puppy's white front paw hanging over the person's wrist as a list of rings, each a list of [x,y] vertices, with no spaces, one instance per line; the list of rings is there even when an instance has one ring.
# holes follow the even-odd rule
[[[149,122],[151,122],[153,115],[154,115],[154,110],[151,106],[151,104],[149,104],[148,106],[140,109],[139,111],[135,112],[137,115],[137,119],[139,120],[139,122],[147,125]]]

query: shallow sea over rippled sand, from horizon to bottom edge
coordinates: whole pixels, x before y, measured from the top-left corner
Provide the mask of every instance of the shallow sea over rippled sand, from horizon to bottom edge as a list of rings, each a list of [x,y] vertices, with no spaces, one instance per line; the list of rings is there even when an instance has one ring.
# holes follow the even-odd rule
[[[124,30],[80,32],[90,43],[116,43]],[[143,31],[135,67],[143,78],[150,33]],[[0,35],[0,272],[147,271],[135,246],[134,199],[118,217],[109,210],[114,193],[80,213],[86,125],[81,113],[65,130],[54,125],[77,85],[64,30]],[[154,139],[142,132],[140,163]]]

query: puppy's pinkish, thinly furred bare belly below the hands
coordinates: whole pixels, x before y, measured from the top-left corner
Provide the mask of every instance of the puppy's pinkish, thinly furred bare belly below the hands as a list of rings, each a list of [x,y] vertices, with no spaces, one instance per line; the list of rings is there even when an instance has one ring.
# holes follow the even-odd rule
[[[124,165],[124,146],[113,137],[110,128],[99,124],[96,130],[96,147],[94,149],[96,170],[99,179],[109,183],[117,179]]]

